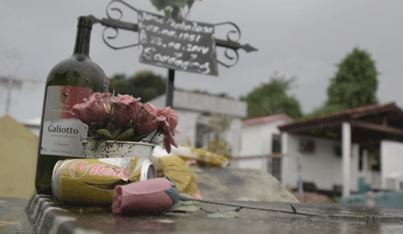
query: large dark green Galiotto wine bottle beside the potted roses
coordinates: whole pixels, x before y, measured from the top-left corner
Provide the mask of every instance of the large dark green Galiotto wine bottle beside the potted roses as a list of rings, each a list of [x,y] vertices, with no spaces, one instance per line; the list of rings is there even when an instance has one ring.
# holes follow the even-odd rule
[[[109,88],[107,76],[89,57],[92,26],[92,18],[78,18],[73,55],[47,76],[35,177],[39,194],[52,195],[52,172],[58,160],[84,157],[80,138],[87,136],[88,127],[71,114],[71,107]]]

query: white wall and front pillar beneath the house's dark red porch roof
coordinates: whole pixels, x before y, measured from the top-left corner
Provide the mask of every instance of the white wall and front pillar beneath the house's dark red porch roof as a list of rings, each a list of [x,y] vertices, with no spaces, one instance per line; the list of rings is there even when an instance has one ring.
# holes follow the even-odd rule
[[[299,140],[309,139],[315,141],[316,149],[313,153],[300,153]],[[339,141],[320,139],[315,137],[288,134],[287,178],[284,184],[297,187],[298,157],[302,165],[304,182],[314,182],[317,189],[332,190],[334,185],[342,185],[341,156],[334,153],[334,144]],[[351,146],[351,190],[357,191],[358,179],[358,144]]]

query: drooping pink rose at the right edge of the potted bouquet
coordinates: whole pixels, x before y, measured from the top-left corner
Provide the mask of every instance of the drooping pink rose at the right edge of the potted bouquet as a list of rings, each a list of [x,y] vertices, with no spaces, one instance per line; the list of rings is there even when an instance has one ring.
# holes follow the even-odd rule
[[[175,139],[173,139],[173,136],[175,136],[175,134],[180,134],[176,129],[177,123],[179,122],[179,116],[177,116],[175,110],[172,110],[170,107],[165,107],[163,109],[157,107],[156,111],[158,116],[165,117],[165,120],[160,124],[160,127],[163,129],[163,134],[165,135],[165,149],[170,153],[171,144],[177,147],[177,143]]]

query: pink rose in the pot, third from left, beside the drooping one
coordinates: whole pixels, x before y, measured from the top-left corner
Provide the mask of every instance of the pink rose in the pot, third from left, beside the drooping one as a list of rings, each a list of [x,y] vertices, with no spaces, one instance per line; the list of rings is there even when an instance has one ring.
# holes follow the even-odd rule
[[[156,108],[150,103],[147,103],[146,106],[141,106],[140,109],[137,131],[141,132],[141,134],[155,131],[160,126],[160,123],[165,120],[165,117],[156,115]]]

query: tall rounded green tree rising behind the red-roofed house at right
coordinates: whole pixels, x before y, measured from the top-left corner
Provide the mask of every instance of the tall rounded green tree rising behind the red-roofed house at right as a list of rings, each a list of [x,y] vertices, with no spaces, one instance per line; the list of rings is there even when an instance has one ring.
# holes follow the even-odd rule
[[[366,50],[354,48],[337,66],[339,71],[327,88],[327,102],[310,117],[378,103],[378,71]]]

